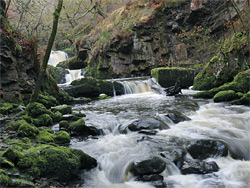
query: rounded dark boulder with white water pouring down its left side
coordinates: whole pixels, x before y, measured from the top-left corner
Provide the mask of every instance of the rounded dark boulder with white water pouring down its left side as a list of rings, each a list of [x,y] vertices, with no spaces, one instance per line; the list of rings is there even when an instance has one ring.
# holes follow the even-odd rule
[[[134,163],[131,172],[135,176],[160,174],[166,168],[166,163],[159,157],[152,157],[148,160]]]

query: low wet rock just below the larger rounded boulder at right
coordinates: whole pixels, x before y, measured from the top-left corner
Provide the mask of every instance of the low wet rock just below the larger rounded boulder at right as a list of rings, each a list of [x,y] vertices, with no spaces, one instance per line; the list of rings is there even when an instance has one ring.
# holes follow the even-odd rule
[[[185,160],[181,167],[182,174],[208,174],[219,171],[218,165],[212,162],[205,162],[199,160]]]

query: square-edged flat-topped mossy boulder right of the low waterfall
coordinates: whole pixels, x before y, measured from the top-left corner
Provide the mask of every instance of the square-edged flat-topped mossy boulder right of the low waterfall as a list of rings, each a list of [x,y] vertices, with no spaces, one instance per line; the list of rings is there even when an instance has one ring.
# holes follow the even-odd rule
[[[194,70],[180,67],[161,67],[151,70],[151,76],[156,78],[162,87],[174,86],[180,79],[182,88],[188,88],[194,82]]]

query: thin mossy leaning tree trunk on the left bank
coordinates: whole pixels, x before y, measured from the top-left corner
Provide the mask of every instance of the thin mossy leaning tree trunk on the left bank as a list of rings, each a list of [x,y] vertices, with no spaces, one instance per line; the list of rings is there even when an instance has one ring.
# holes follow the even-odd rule
[[[49,61],[49,56],[50,56],[50,53],[51,53],[51,49],[52,49],[52,46],[53,46],[53,43],[54,43],[54,40],[55,40],[55,37],[56,37],[57,26],[58,26],[60,12],[62,10],[62,5],[63,5],[63,0],[58,0],[57,7],[56,7],[56,9],[54,11],[53,27],[52,27],[50,38],[49,38],[48,45],[47,45],[47,48],[46,48],[45,56],[44,56],[44,59],[43,59],[43,64],[42,64],[40,73],[38,75],[38,79],[36,81],[35,89],[34,89],[32,95],[31,95],[30,102],[36,102],[37,101],[38,93],[39,93],[39,91],[41,89],[41,85],[42,85],[42,82],[43,82],[43,79],[44,79],[44,76],[45,76],[45,72],[46,72],[48,61]]]

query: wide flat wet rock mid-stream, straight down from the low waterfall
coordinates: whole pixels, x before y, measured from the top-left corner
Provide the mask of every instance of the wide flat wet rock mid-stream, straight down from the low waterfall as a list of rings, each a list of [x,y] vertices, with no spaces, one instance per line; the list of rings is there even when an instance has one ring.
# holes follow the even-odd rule
[[[130,131],[153,130],[153,129],[168,129],[169,127],[161,121],[154,118],[146,118],[135,120],[128,125]]]

